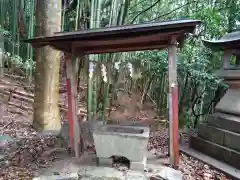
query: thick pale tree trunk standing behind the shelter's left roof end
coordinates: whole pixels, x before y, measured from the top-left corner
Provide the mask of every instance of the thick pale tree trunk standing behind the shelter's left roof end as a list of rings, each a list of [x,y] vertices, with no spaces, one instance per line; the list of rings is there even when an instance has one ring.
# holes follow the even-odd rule
[[[37,0],[36,35],[49,36],[61,30],[61,1]],[[36,51],[33,124],[37,130],[60,130],[60,51],[49,46]]]

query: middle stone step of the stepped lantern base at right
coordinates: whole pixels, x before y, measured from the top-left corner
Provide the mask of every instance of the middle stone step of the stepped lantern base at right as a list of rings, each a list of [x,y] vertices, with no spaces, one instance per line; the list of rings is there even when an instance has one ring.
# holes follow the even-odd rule
[[[198,136],[240,152],[240,134],[238,133],[202,123],[198,127]]]

